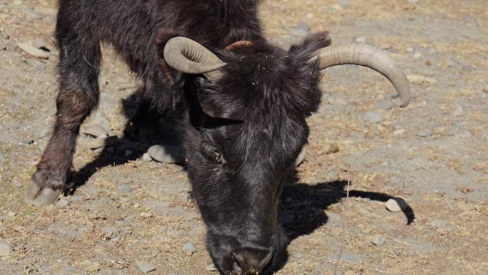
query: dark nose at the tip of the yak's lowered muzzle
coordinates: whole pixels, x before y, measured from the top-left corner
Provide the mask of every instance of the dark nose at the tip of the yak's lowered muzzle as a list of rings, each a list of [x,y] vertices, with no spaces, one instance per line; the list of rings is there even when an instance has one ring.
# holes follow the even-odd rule
[[[259,274],[273,257],[271,249],[248,248],[235,251],[232,254],[235,263],[239,266],[240,274]]]

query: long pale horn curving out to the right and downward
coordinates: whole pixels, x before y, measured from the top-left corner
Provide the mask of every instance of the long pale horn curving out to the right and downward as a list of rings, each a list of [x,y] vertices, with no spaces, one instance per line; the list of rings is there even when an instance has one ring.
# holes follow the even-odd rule
[[[364,44],[347,44],[328,46],[315,53],[320,59],[320,69],[342,64],[355,64],[378,71],[386,76],[397,89],[402,100],[400,107],[406,107],[410,104],[410,83],[407,76],[384,51]],[[315,61],[315,57],[310,61]]]

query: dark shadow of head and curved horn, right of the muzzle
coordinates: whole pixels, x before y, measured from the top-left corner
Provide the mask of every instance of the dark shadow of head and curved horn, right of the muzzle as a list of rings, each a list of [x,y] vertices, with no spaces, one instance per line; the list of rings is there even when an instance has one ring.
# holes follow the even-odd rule
[[[414,211],[405,200],[383,193],[353,190],[351,186],[350,183],[350,197],[382,202],[395,199],[402,206],[407,225],[412,224],[415,220]],[[311,234],[320,226],[327,224],[328,218],[324,211],[346,197],[347,181],[330,181],[310,185],[298,183],[296,174],[290,176],[281,195],[280,214],[278,215],[287,237],[285,246],[288,247],[291,241],[299,236]],[[278,265],[269,274],[282,269],[287,261],[288,252],[283,249],[282,254],[278,255]]]

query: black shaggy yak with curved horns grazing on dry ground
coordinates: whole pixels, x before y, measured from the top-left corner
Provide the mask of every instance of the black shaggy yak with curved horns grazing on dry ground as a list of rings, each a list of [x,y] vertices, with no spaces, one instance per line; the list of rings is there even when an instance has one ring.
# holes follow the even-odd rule
[[[187,170],[221,274],[263,274],[286,238],[277,211],[283,182],[320,104],[322,70],[369,66],[410,102],[405,74],[383,51],[330,46],[327,32],[290,49],[270,44],[257,0],[60,0],[56,122],[26,201],[52,204],[68,188],[76,136],[98,104],[101,43],[141,79],[138,113],[173,110]]]

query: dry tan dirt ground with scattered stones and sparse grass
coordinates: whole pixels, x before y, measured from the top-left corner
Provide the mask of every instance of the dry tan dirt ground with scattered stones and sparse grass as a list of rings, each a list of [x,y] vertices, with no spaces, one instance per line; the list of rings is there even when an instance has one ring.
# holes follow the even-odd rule
[[[141,260],[151,274],[215,274],[183,167],[141,157],[157,141],[97,152],[81,136],[73,170],[86,184],[56,206],[24,203],[49,139],[57,57],[17,42],[51,41],[55,13],[54,0],[0,0],[0,274],[141,274]],[[307,156],[283,194],[292,241],[277,274],[488,274],[487,1],[264,0],[260,17],[282,46],[300,22],[335,44],[382,46],[413,93],[400,109],[380,74],[327,70]],[[121,136],[134,86],[106,47],[101,106],[86,125]],[[339,151],[327,154],[331,144]],[[391,197],[410,209],[387,211]]]

